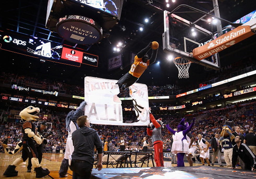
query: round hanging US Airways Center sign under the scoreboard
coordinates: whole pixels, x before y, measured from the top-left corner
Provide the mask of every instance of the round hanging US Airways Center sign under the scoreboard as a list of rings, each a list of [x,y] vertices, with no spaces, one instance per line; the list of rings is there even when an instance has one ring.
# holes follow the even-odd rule
[[[63,39],[75,44],[95,44],[102,38],[102,28],[93,19],[84,16],[62,17],[56,30]]]

